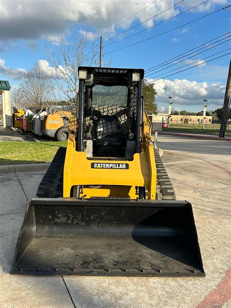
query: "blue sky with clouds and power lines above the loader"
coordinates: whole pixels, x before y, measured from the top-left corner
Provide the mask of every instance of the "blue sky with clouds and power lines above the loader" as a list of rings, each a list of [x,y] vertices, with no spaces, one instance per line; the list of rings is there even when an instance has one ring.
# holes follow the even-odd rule
[[[231,7],[224,8],[229,4],[229,0],[0,0],[0,79],[15,88],[33,67],[47,71],[51,63],[46,42],[57,50],[58,38],[72,43],[73,37],[87,31],[89,50],[103,34],[104,66],[145,69],[147,81],[154,81],[161,112],[168,106],[168,96],[173,96],[173,109],[198,112],[207,98],[208,109],[214,110],[223,105],[229,69]],[[191,49],[194,53],[189,55]],[[197,64],[201,65],[179,72]]]

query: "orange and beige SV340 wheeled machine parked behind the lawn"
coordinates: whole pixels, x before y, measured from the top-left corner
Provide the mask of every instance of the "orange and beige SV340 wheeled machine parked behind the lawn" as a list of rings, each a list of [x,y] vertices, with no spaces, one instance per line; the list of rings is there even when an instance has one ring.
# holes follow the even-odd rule
[[[58,141],[66,141],[68,139],[68,121],[72,117],[72,109],[73,106],[65,106],[63,111],[54,111],[40,117],[41,134]]]

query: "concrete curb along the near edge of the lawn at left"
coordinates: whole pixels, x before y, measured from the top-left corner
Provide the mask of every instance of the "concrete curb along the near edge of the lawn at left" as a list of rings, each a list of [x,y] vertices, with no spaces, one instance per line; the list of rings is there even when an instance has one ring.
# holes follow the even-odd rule
[[[50,163],[0,166],[0,174],[17,172],[47,171]]]

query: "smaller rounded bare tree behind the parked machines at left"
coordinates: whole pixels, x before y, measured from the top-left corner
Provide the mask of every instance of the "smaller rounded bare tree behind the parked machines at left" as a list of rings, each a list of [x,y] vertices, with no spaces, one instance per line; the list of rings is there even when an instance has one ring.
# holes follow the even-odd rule
[[[52,78],[38,67],[25,73],[19,85],[25,107],[41,107],[54,99]]]

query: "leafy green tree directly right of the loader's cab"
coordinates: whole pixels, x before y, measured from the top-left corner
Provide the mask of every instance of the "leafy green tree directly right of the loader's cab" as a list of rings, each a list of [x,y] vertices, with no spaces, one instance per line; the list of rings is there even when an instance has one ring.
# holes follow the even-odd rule
[[[156,91],[154,83],[146,84],[146,79],[143,80],[143,96],[144,96],[144,109],[148,115],[157,114],[157,104],[155,103]]]

